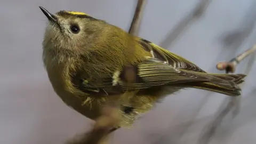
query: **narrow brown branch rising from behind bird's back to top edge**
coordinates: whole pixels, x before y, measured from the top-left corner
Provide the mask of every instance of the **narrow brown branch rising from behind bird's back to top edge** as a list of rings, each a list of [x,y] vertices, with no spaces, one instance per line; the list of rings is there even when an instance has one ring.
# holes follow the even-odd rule
[[[142,17],[142,12],[145,7],[147,0],[138,0],[133,19],[131,22],[131,26],[129,29],[129,33],[132,35],[138,35],[139,33],[139,27],[140,27],[140,22],[141,22],[141,17]]]

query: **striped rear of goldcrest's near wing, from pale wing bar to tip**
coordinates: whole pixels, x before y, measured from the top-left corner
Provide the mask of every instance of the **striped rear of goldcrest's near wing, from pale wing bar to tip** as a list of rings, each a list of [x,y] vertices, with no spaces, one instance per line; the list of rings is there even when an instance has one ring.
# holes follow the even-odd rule
[[[138,90],[170,83],[207,81],[210,79],[195,71],[177,69],[165,61],[149,58],[137,66],[125,66],[113,85],[121,85],[123,90]]]

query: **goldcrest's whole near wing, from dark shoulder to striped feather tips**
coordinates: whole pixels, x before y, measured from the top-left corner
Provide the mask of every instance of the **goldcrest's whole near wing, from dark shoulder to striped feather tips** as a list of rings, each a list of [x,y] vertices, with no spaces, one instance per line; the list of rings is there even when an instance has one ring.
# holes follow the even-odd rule
[[[137,65],[124,66],[121,71],[114,71],[112,77],[103,79],[102,82],[84,80],[81,90],[94,95],[111,95],[170,83],[210,81],[209,77],[200,74],[204,73],[177,69],[165,61],[149,57]]]

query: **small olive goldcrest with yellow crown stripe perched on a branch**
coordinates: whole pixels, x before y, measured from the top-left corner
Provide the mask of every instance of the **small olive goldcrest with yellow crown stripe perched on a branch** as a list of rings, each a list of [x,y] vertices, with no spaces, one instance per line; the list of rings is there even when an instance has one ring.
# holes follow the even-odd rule
[[[107,101],[130,126],[154,103],[185,88],[240,95],[243,74],[209,74],[146,39],[83,12],[51,14],[43,62],[54,91],[68,106],[96,119]]]

